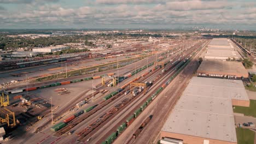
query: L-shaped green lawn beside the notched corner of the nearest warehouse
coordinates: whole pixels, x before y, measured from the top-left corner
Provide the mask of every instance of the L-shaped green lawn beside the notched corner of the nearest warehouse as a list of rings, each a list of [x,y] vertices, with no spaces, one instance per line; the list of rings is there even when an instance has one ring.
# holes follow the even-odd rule
[[[236,113],[243,113],[246,116],[253,116],[256,117],[256,100],[250,99],[250,107],[245,106],[234,106],[234,112]]]

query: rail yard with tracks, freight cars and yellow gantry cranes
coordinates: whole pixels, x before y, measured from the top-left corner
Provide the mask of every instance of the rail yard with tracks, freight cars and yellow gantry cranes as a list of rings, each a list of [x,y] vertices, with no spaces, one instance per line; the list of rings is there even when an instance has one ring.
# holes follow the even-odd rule
[[[137,59],[120,68],[115,64],[102,72],[9,86],[6,92],[15,106],[8,108],[19,120],[18,129],[11,133],[15,135],[11,142],[112,143],[141,113],[145,113],[147,106],[208,41],[189,40],[189,45],[173,45],[165,50],[158,47],[158,52],[150,53],[148,58]],[[119,56],[118,60],[126,57]],[[117,57],[91,62],[82,59],[74,66],[82,67],[83,61],[85,65],[94,65],[113,60]],[[59,66],[60,63],[45,70],[63,70]],[[68,69],[74,66],[67,64]],[[40,73],[39,68],[34,69],[35,76]],[[42,73],[45,70],[41,70]],[[21,109],[21,105],[25,106]],[[24,117],[26,121],[22,121]],[[154,115],[144,119],[138,131],[142,131],[152,118]],[[26,133],[21,133],[24,130]]]

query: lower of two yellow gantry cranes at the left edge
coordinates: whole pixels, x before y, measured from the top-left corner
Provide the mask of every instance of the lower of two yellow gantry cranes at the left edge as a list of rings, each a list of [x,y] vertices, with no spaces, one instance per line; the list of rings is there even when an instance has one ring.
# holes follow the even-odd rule
[[[8,127],[16,126],[15,113],[4,107],[4,110],[0,109],[5,114],[5,118],[0,117],[1,123],[7,123]],[[12,123],[11,123],[12,122]]]

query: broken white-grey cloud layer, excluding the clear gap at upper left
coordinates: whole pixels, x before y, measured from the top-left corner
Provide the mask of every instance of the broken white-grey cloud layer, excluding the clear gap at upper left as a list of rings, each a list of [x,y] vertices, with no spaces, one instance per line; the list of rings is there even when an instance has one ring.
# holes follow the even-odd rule
[[[147,2],[139,0],[136,1],[138,4],[130,4],[135,1],[124,0],[122,4],[114,4],[115,1],[112,0],[97,1],[97,3],[102,4],[106,4],[106,2],[109,5],[92,4],[72,8],[61,3],[37,3],[36,5],[31,3],[27,4],[28,7],[24,9],[0,14],[0,21],[2,26],[8,26],[10,23],[14,25],[15,23],[16,25],[27,23],[27,25],[35,26],[59,25],[67,27],[85,26],[85,24],[95,27],[102,25],[234,25],[234,23],[236,25],[255,25],[256,21],[256,7],[252,6],[253,3],[248,5],[246,2],[190,0],[168,1],[166,4],[158,4],[156,3],[157,0]],[[110,2],[113,2],[113,5],[110,5]]]

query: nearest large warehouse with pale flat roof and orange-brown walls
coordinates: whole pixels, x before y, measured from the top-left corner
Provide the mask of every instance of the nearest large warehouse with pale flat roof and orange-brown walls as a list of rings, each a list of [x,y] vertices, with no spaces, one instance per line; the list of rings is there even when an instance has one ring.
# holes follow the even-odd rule
[[[241,80],[193,77],[162,127],[160,142],[237,143],[232,105],[249,106]]]

